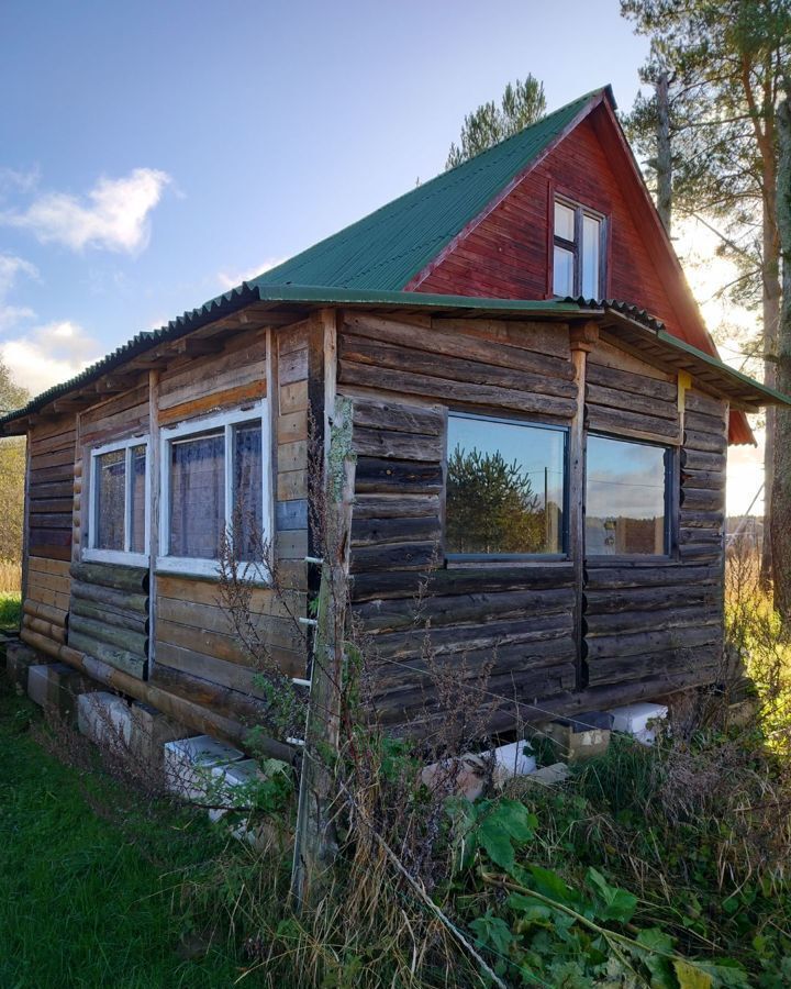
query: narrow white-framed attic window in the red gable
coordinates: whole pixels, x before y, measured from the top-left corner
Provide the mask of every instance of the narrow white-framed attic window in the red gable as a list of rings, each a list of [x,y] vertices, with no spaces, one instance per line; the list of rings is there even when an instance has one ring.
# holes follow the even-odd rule
[[[556,198],[553,241],[553,293],[560,298],[603,298],[604,218],[579,203]]]

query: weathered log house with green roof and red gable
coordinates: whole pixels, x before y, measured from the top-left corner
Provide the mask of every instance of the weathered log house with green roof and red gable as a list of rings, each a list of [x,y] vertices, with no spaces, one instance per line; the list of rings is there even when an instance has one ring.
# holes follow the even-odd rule
[[[308,426],[337,396],[386,724],[443,716],[426,577],[436,655],[510,700],[494,729],[716,678],[728,441],[789,399],[717,358],[609,89],[0,420],[29,441],[22,641],[241,738],[222,532],[244,500],[307,614]],[[282,602],[252,607],[304,678]]]

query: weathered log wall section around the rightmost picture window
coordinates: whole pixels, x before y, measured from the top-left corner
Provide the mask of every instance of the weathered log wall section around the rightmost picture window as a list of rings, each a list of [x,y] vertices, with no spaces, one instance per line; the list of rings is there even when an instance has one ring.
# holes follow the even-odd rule
[[[600,342],[588,357],[588,430],[677,454],[667,558],[586,558],[582,686],[623,684],[626,692],[630,684],[666,676],[671,691],[710,682],[721,662],[727,405],[681,392],[677,376],[612,343]]]

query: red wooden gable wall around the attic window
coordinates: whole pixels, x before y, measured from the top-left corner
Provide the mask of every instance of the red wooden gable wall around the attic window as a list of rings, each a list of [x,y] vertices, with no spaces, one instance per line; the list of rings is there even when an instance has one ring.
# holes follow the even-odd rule
[[[680,340],[716,356],[676,253],[605,98],[530,166],[408,290],[513,299],[552,297],[556,192],[608,218],[605,298],[634,303]],[[743,413],[731,442],[753,443]]]

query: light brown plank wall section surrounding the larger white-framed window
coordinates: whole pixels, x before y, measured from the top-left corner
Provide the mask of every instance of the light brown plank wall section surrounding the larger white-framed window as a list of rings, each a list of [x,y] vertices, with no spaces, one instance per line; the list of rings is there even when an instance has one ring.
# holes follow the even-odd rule
[[[288,337],[289,331],[282,332]],[[297,365],[299,360],[292,363]],[[288,366],[288,360],[285,364]],[[283,388],[290,387],[289,414],[296,412],[299,416],[300,410],[305,414],[305,407],[299,399],[299,371],[286,371],[288,384],[281,385],[277,368],[282,365],[274,331],[252,330],[237,334],[219,354],[200,359],[186,356],[168,367],[159,379],[157,401],[160,429],[188,421],[200,422],[208,414],[260,399],[269,401],[272,435],[264,437],[264,442],[272,444],[275,541],[279,554],[290,549],[281,544],[283,521],[288,524],[293,520],[289,532],[299,532],[294,529],[298,515],[279,510],[283,465],[289,467],[288,497],[302,490],[293,477],[299,473],[293,448],[293,444],[300,442],[298,422],[289,420],[286,427],[281,423],[279,400]],[[301,390],[305,392],[307,364],[301,371]],[[288,442],[281,445],[276,437]],[[301,477],[301,484],[304,485],[304,477]],[[296,538],[292,545],[299,549]],[[221,607],[216,580],[189,574],[157,573],[155,582],[153,682],[237,721],[259,716],[257,701],[261,688],[256,682],[256,665]],[[281,601],[267,588],[255,589],[249,602],[261,643],[291,676],[304,676],[305,659],[296,641],[287,607],[299,608],[301,603],[294,596],[290,596],[289,601]]]

